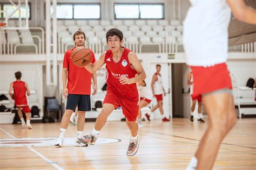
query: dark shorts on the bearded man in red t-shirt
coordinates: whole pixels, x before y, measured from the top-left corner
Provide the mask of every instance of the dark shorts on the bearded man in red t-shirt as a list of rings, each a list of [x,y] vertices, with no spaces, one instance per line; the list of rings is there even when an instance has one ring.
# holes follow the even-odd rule
[[[75,95],[69,94],[68,100],[66,101],[66,109],[78,111],[90,111],[91,110],[91,98],[90,95]]]

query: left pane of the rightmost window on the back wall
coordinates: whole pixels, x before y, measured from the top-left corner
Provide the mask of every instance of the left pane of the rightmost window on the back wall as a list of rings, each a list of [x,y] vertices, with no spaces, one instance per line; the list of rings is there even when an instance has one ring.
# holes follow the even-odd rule
[[[114,13],[117,19],[139,18],[139,5],[115,4]]]

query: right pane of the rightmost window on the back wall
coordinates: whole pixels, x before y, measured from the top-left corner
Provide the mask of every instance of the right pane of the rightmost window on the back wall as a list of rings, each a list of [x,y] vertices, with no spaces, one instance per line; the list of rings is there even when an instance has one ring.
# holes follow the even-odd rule
[[[140,18],[143,18],[143,19],[164,18],[164,6],[163,5],[141,5]]]

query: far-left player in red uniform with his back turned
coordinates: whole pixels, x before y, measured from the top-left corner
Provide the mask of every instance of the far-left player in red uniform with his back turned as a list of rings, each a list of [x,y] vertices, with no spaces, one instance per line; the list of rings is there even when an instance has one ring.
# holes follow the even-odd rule
[[[9,95],[14,100],[14,103],[18,108],[18,115],[19,115],[19,118],[21,119],[22,127],[26,126],[28,129],[32,129],[32,126],[30,124],[31,110],[29,108],[28,98],[26,96],[26,95],[28,96],[30,95],[30,90],[29,90],[28,84],[24,81],[21,81],[21,76],[22,76],[21,72],[15,73],[16,81],[10,84]],[[14,94],[12,94],[12,89],[14,89]],[[25,112],[26,123],[24,121],[21,109]]]

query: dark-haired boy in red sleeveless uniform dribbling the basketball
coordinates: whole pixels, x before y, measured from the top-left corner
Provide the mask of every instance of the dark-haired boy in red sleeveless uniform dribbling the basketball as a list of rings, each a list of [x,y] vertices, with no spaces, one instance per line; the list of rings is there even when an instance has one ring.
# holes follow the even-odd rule
[[[146,78],[146,73],[137,55],[130,49],[122,47],[123,42],[123,33],[118,29],[110,29],[106,33],[106,43],[109,50],[102,53],[99,60],[93,65],[85,66],[90,73],[95,73],[106,63],[107,94],[92,134],[78,138],[77,142],[80,142],[80,144],[95,144],[107,117],[114,109],[121,107],[126,117],[126,124],[131,132],[130,144],[126,154],[132,156],[137,153],[140,141],[136,122],[139,113],[138,82]]]

